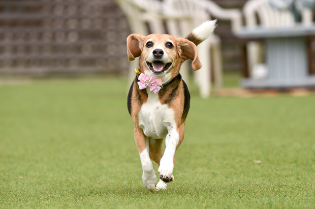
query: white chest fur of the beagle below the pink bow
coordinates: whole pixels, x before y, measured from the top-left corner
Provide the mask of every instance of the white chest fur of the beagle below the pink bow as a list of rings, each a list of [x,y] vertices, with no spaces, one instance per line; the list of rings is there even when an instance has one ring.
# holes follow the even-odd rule
[[[165,138],[168,126],[175,126],[174,111],[166,104],[161,104],[158,94],[147,89],[148,100],[141,106],[138,119],[139,127],[148,137]]]

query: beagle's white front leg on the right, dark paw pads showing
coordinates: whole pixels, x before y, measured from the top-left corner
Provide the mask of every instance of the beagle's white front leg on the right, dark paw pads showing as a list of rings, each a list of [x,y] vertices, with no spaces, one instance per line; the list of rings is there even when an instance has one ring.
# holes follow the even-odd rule
[[[174,179],[174,155],[180,139],[176,125],[168,124],[167,130],[168,134],[165,137],[166,148],[158,167],[159,178],[166,183]]]

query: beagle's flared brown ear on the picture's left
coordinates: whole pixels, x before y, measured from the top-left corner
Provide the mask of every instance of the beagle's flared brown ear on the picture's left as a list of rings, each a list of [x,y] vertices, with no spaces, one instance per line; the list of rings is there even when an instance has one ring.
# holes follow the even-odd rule
[[[143,41],[146,36],[133,33],[127,37],[127,54],[128,60],[132,61],[134,58],[141,55]]]

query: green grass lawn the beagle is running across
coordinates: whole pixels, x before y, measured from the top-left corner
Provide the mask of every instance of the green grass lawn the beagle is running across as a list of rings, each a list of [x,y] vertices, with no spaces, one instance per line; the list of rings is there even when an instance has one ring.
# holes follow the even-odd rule
[[[141,176],[125,80],[0,86],[0,209],[313,209],[315,96],[194,93],[175,181]]]

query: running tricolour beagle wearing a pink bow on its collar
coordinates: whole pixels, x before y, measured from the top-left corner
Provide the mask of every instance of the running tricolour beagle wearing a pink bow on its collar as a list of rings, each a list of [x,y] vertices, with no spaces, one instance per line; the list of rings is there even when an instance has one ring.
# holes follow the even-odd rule
[[[201,68],[197,55],[199,43],[215,29],[216,20],[207,21],[186,38],[168,34],[127,37],[128,60],[140,57],[140,70],[131,84],[127,106],[134,123],[134,139],[140,154],[142,180],[151,191],[166,189],[174,180],[175,151],[184,139],[190,94],[179,73],[185,60],[192,60],[193,70]],[[165,139],[165,151],[161,145]],[[158,164],[157,183],[152,159]]]

